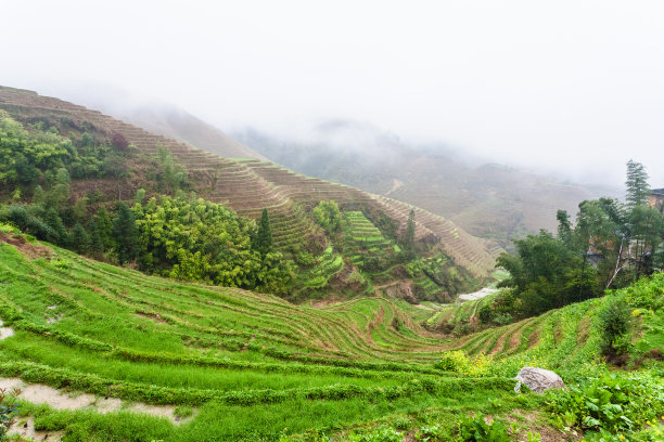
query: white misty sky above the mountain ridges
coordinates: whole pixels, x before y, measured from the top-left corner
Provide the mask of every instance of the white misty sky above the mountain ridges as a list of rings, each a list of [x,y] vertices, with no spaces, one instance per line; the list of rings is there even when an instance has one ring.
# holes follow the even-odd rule
[[[0,0],[0,84],[164,100],[225,130],[367,121],[664,187],[663,1]],[[77,90],[78,89],[78,90]]]

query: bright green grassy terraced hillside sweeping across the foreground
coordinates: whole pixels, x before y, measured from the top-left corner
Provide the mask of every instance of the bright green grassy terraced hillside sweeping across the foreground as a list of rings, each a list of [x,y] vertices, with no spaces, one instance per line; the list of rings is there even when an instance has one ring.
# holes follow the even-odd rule
[[[20,402],[24,419],[68,441],[401,440],[434,425],[432,441],[451,440],[460,412],[511,416],[524,438],[562,437],[540,415],[546,396],[515,395],[510,378],[528,364],[572,382],[603,369],[592,324],[605,298],[457,339],[421,325],[436,304],[293,306],[145,276],[8,227],[0,235],[0,318],[15,332],[0,340],[0,377],[124,403],[102,415]],[[660,316],[642,316],[647,337],[659,336]],[[661,339],[647,342],[643,354]],[[449,350],[494,361],[444,372],[436,363]],[[136,413],[157,405],[182,420]]]

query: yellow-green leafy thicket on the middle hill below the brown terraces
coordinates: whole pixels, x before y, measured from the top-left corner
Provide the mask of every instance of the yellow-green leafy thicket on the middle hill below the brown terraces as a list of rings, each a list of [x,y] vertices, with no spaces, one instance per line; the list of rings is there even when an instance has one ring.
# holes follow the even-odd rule
[[[136,205],[139,266],[184,281],[283,292],[291,270],[268,243],[252,248],[260,230],[222,205],[202,198],[151,198]],[[269,232],[269,222],[263,224]],[[266,227],[264,227],[266,229]],[[263,231],[265,235],[265,230]],[[266,237],[264,236],[264,240]]]

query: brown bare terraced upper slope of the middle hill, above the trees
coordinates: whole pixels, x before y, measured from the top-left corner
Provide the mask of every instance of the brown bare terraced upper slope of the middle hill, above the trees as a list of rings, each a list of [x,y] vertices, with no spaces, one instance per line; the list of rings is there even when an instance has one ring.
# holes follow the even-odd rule
[[[240,214],[258,218],[267,208],[274,244],[288,250],[320,242],[322,233],[303,210],[318,202],[334,199],[345,209],[384,213],[405,231],[410,210],[416,211],[416,237],[433,249],[439,249],[454,262],[477,278],[490,274],[499,248],[473,237],[451,221],[396,200],[372,195],[354,187],[308,178],[269,161],[233,160],[194,148],[182,142],[155,135],[143,129],[114,119],[97,110],[47,98],[30,91],[0,88],[0,108],[26,123],[37,121],[55,125],[66,133],[68,127],[94,131],[107,138],[123,134],[141,155],[154,157],[157,146],[166,146],[194,183],[196,192],[213,202],[225,203]],[[133,183],[138,188],[139,184]],[[77,192],[73,185],[73,193]],[[136,188],[128,188],[132,195]],[[100,187],[113,193],[114,188]],[[87,188],[79,188],[85,194]]]

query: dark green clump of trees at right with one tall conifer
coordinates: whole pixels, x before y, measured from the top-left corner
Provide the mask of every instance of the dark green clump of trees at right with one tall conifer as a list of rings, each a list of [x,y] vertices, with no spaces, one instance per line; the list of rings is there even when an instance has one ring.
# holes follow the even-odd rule
[[[510,272],[501,286],[512,289],[496,306],[512,317],[533,316],[661,270],[664,216],[648,205],[647,179],[643,166],[629,160],[627,204],[586,200],[575,226],[564,210],[558,211],[558,237],[542,230],[515,240],[516,255],[498,258],[498,265]]]

